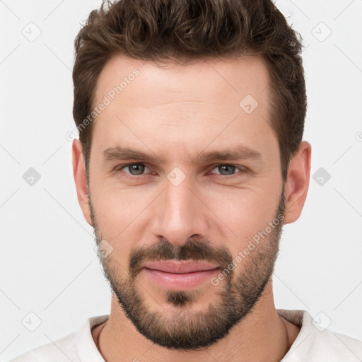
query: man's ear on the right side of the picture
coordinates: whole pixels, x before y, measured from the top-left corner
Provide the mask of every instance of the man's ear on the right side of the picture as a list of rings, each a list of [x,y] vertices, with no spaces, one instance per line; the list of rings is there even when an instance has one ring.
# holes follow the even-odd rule
[[[307,141],[302,141],[298,153],[289,163],[285,189],[284,224],[298,220],[302,213],[309,187],[311,156],[312,146]]]

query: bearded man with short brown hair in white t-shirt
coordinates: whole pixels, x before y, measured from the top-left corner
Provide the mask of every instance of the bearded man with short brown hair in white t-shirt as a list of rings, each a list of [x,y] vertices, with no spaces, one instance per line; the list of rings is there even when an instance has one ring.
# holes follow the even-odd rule
[[[91,13],[76,38],[73,167],[111,312],[13,361],[362,358],[362,342],[274,306],[282,226],[310,178],[300,50],[269,0]]]

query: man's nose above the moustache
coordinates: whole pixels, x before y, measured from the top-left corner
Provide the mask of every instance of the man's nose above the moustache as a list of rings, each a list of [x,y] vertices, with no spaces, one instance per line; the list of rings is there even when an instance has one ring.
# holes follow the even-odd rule
[[[165,180],[165,189],[153,206],[153,235],[174,245],[184,245],[191,236],[206,237],[208,233],[208,209],[190,178],[180,185]]]

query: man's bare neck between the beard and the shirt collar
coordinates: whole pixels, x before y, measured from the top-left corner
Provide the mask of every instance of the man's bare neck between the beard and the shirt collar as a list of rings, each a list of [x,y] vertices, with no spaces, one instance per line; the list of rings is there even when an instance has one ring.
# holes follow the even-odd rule
[[[267,284],[255,308],[228,335],[212,346],[198,351],[175,351],[153,344],[140,334],[124,315],[117,298],[112,296],[110,318],[95,327],[92,334],[107,362],[174,361],[206,362],[281,361],[296,339],[299,327],[280,317],[274,306],[271,283]]]

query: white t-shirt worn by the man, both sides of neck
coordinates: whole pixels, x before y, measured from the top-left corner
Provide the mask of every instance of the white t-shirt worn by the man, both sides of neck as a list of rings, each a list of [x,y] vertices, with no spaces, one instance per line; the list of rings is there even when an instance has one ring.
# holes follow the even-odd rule
[[[305,310],[278,310],[300,332],[281,362],[361,362],[362,341],[323,329]],[[88,318],[78,332],[26,352],[11,362],[105,362],[91,329],[109,315]]]

